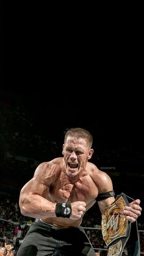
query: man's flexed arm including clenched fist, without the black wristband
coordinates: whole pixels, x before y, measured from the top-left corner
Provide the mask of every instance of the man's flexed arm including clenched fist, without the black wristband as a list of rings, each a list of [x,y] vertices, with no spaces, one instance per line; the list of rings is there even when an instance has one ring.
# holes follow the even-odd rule
[[[59,177],[56,164],[43,163],[35,170],[34,177],[20,192],[20,210],[24,216],[32,218],[56,218],[56,203],[48,200],[49,187]],[[77,220],[85,212],[85,202],[71,203],[70,219]]]

